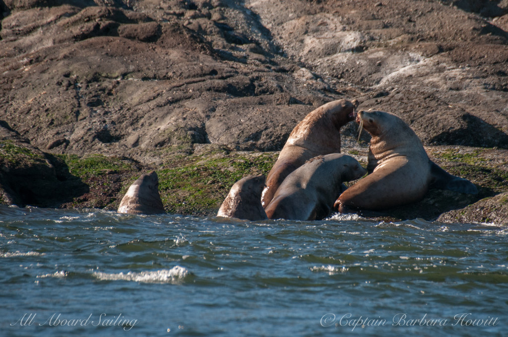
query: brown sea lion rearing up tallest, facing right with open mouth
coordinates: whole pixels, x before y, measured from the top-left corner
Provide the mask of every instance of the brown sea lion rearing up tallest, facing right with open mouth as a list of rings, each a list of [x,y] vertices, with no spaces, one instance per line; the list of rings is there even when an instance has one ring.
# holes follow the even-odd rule
[[[354,120],[355,99],[334,100],[310,112],[291,132],[266,179],[262,204],[266,209],[285,177],[307,160],[340,152],[340,128]]]

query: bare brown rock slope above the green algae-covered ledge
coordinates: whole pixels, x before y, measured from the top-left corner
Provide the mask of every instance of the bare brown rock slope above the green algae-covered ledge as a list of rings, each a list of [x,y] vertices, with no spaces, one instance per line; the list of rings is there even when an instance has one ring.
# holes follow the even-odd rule
[[[54,154],[276,151],[340,98],[397,114],[426,146],[508,148],[504,0],[0,4],[0,118]]]

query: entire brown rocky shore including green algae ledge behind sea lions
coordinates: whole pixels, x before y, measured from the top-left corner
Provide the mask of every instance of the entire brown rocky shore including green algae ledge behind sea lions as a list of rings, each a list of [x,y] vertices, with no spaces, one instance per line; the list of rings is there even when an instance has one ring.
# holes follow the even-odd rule
[[[480,4],[482,6],[477,6]],[[214,215],[339,98],[397,114],[479,187],[387,220],[508,224],[506,1],[0,1],[0,201],[114,210],[156,170],[171,213]],[[342,128],[366,163],[368,137]]]

